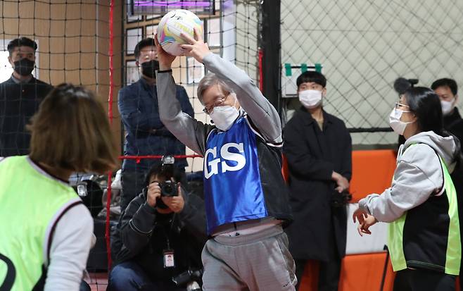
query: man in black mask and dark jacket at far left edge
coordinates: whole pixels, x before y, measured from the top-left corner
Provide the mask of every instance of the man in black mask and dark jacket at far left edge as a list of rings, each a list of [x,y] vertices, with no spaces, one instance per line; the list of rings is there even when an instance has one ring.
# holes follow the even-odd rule
[[[32,75],[37,43],[27,37],[8,43],[13,73],[0,84],[0,156],[29,153],[30,132],[25,129],[52,87]]]

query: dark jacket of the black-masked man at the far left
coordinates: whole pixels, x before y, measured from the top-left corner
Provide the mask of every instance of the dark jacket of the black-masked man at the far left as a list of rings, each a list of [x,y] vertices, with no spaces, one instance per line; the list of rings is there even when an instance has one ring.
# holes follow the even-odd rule
[[[20,84],[10,78],[0,84],[0,156],[29,154],[25,125],[52,88],[35,78]]]

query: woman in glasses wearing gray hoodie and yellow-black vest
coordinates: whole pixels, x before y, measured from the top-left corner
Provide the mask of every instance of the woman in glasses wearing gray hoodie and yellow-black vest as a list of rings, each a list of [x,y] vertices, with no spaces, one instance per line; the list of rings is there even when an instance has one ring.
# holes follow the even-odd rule
[[[408,89],[389,120],[406,140],[392,185],[360,200],[354,222],[360,222],[360,235],[369,234],[376,221],[389,223],[395,291],[455,290],[461,245],[449,171],[459,156],[459,142],[443,130],[439,97],[428,88]]]

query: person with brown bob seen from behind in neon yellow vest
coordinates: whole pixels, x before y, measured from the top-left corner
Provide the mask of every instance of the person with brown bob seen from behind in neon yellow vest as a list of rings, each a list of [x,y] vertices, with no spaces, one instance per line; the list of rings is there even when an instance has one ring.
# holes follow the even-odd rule
[[[93,221],[68,180],[118,163],[103,106],[59,85],[29,126],[29,156],[0,161],[0,290],[79,290]]]

